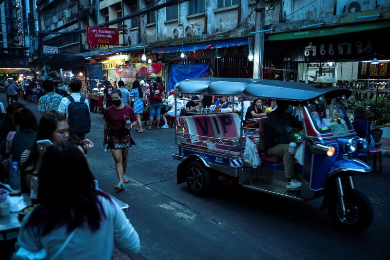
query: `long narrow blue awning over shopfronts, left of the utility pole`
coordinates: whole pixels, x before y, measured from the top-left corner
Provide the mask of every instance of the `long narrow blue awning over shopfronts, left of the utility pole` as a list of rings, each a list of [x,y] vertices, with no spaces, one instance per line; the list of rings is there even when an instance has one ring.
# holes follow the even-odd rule
[[[152,48],[152,53],[180,53],[180,52],[206,50],[210,48],[216,49],[216,48],[243,46],[243,45],[248,45],[248,38],[198,42],[194,44],[176,45],[170,47],[158,47],[158,48]]]

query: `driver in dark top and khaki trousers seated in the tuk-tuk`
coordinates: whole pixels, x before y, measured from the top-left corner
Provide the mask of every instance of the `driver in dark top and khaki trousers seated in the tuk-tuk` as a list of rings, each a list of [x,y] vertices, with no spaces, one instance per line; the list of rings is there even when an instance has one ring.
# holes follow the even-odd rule
[[[288,104],[285,101],[278,100],[277,104],[277,109],[268,116],[264,144],[269,154],[283,157],[288,182],[286,188],[295,189],[302,186],[302,183],[294,179],[294,155],[289,153],[290,133],[293,128],[302,130],[303,127],[298,119],[286,112]]]

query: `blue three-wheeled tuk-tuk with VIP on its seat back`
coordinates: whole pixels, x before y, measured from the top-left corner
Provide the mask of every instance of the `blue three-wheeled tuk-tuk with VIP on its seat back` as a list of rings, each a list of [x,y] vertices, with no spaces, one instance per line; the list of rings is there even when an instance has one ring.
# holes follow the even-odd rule
[[[176,98],[179,94],[227,95],[238,98],[241,107],[244,100],[254,98],[287,102],[303,129],[292,136],[298,146],[294,170],[302,186],[288,189],[282,158],[264,149],[266,117],[257,119],[258,128],[245,128],[245,115],[234,112],[234,102],[231,110],[203,109],[178,117],[177,154],[173,155],[181,161],[177,184],[186,182],[192,193],[204,196],[219,177],[225,177],[245,188],[298,201],[324,197],[321,209],[328,208],[331,221],[348,232],[363,232],[372,223],[372,205],[352,181],[356,172],[370,172],[371,167],[357,159],[359,153],[367,153],[368,142],[358,138],[342,105],[351,96],[349,90],[277,80],[195,78],[177,83],[175,94]],[[318,104],[324,105],[326,115],[313,115]],[[244,160],[246,142],[257,148],[257,167]]]

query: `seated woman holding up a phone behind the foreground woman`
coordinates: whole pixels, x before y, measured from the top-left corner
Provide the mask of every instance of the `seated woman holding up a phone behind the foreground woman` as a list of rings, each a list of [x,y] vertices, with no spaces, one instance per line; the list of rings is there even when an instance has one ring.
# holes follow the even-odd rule
[[[53,144],[70,141],[84,154],[93,147],[93,143],[89,139],[80,140],[76,135],[69,133],[69,125],[63,115],[59,113],[44,114],[39,120],[38,132],[34,143],[28,149],[25,149],[20,156],[21,179],[25,180],[22,183],[22,187],[27,190],[30,186],[32,173],[39,170],[42,159],[42,148],[37,146],[37,141],[45,139],[50,140]]]

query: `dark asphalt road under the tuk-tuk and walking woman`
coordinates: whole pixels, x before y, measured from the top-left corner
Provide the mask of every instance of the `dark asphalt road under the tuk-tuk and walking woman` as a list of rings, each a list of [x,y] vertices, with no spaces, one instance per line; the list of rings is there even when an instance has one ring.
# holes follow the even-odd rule
[[[4,103],[5,95],[0,94]],[[27,106],[39,116],[37,105]],[[87,155],[100,188],[130,205],[127,217],[141,240],[141,259],[389,259],[390,159],[384,173],[359,174],[355,188],[374,208],[374,221],[353,236],[332,225],[322,199],[301,203],[240,187],[218,186],[207,198],[176,184],[174,129],[132,131],[128,189],[117,191],[114,160],[103,152],[104,121],[92,113]]]

